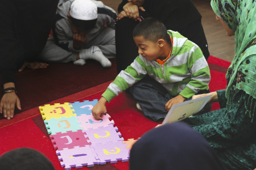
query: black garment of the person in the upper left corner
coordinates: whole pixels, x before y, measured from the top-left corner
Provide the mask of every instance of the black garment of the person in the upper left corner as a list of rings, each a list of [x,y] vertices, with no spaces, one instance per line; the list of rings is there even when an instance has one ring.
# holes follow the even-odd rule
[[[15,82],[24,61],[34,62],[51,31],[58,0],[0,1],[1,84]]]

